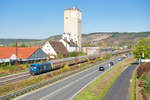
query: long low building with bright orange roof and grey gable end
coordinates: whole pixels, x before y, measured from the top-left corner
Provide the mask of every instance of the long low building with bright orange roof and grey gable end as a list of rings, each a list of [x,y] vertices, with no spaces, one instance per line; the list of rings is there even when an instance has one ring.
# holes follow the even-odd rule
[[[10,60],[40,60],[47,59],[48,55],[37,47],[15,48],[0,47],[0,62],[9,62]]]

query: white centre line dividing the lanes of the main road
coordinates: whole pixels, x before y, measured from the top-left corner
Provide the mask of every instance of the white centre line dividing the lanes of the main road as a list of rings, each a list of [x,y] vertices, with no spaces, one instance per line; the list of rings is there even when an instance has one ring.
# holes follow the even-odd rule
[[[61,90],[63,90],[63,89],[65,89],[65,88],[67,88],[67,87],[69,87],[69,86],[75,84],[76,82],[78,82],[78,81],[80,81],[80,80],[82,80],[82,79],[84,79],[84,78],[86,78],[86,77],[92,75],[92,74],[95,73],[95,72],[97,72],[97,70],[93,71],[93,72],[90,73],[90,74],[86,74],[85,76],[83,76],[83,77],[81,77],[81,78],[79,78],[79,79],[76,79],[75,81],[72,81],[72,82],[70,82],[69,84],[66,84],[64,87],[59,88],[59,89],[57,89],[56,91],[54,91],[54,92],[52,92],[52,93],[50,93],[50,94],[48,94],[48,95],[46,95],[46,96],[40,98],[40,100],[45,100],[46,98],[51,97],[53,94],[56,94],[57,92],[60,92]]]

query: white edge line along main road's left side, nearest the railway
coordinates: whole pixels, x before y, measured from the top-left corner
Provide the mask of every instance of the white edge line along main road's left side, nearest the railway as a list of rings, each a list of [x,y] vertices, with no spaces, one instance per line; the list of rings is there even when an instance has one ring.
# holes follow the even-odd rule
[[[59,83],[59,82],[61,82],[61,81],[65,81],[65,80],[67,80],[67,79],[69,79],[69,78],[71,78],[71,77],[74,77],[74,76],[76,76],[76,75],[82,73],[82,72],[89,71],[89,70],[91,70],[91,69],[94,69],[95,67],[98,67],[99,65],[106,64],[106,63],[108,63],[109,61],[117,60],[118,58],[119,58],[119,57],[117,57],[117,58],[112,58],[112,59],[110,59],[110,60],[108,60],[108,61],[106,61],[106,62],[100,63],[100,64],[98,64],[98,65],[95,65],[95,66],[91,67],[91,68],[88,68],[88,69],[83,70],[83,71],[81,71],[81,72],[75,73],[75,74],[73,74],[73,75],[71,75],[71,76],[68,76],[68,77],[66,77],[65,79],[58,80],[58,81],[56,81],[56,82],[54,82],[54,83],[52,83],[52,84],[50,84],[50,85],[44,86],[44,87],[39,88],[39,89],[37,89],[37,90],[34,90],[34,91],[32,91],[32,92],[29,92],[29,93],[26,93],[26,94],[24,94],[24,95],[21,95],[21,96],[15,98],[14,100],[20,100],[21,98],[23,98],[23,97],[25,97],[25,96],[28,96],[28,95],[31,95],[31,94],[33,94],[33,93],[39,92],[39,91],[41,91],[41,90],[44,90],[45,88],[51,87],[52,85],[55,85],[55,84],[57,84],[57,83]]]

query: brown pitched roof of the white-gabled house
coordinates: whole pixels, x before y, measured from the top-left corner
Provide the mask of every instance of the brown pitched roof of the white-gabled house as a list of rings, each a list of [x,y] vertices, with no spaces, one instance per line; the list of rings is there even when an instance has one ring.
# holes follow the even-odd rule
[[[51,46],[53,47],[53,49],[57,54],[63,54],[63,55],[68,54],[67,48],[61,42],[49,41],[49,43],[51,44]]]

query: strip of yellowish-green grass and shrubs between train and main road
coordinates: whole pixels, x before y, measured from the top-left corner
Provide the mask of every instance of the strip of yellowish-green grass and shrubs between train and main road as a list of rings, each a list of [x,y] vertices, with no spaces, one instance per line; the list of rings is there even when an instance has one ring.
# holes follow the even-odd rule
[[[103,60],[105,60],[105,59],[103,59]],[[101,63],[101,61],[96,62],[96,64]],[[68,64],[66,64],[64,68],[61,68],[61,69],[56,70],[56,71],[52,71],[52,72],[37,75],[37,76],[32,76],[28,79],[21,80],[21,81],[4,84],[3,86],[0,87],[0,96],[8,94],[10,92],[14,92],[14,91],[23,89],[23,88],[26,88],[26,87],[31,86],[33,84],[44,82],[44,81],[49,80],[51,78],[57,77],[58,75],[65,74],[67,72],[71,72],[71,71],[77,70],[77,69],[82,68],[82,67],[89,68],[88,66],[93,66],[92,62],[83,63],[83,64],[80,64],[79,66],[75,65],[73,67],[69,67]]]

